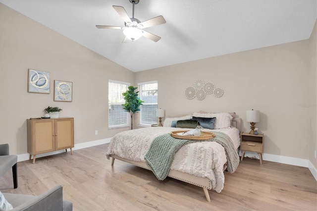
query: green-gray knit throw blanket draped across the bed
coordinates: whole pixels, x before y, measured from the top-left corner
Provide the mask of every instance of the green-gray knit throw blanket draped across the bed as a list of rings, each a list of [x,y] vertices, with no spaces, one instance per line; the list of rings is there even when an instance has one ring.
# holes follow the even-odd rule
[[[164,180],[168,175],[175,154],[182,146],[193,142],[215,141],[224,147],[227,156],[227,169],[230,173],[233,173],[239,164],[238,152],[234,149],[228,135],[222,132],[212,133],[215,134],[215,137],[208,140],[176,139],[171,137],[170,134],[160,135],[153,140],[144,158],[155,176],[159,180]]]

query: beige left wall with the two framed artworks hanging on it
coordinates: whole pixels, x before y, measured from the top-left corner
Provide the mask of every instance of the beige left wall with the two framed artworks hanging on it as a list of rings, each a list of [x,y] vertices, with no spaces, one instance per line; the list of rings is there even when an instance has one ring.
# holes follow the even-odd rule
[[[28,68],[51,73],[49,95],[27,92]],[[74,117],[75,144],[129,129],[108,130],[108,79],[134,83],[130,70],[0,3],[0,144],[10,153],[27,153],[26,119],[47,106]],[[53,80],[73,82],[73,102],[53,101]]]

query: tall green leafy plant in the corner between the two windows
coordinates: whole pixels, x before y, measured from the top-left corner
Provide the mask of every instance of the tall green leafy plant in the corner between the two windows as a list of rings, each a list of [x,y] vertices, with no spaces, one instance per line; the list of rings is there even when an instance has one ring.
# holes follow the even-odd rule
[[[123,106],[123,109],[127,112],[130,113],[131,116],[131,130],[132,130],[132,125],[133,125],[133,114],[140,111],[140,106],[144,101],[141,101],[139,98],[138,93],[135,92],[137,87],[134,86],[129,86],[128,90],[122,93],[122,96],[124,97],[125,104],[121,104]]]

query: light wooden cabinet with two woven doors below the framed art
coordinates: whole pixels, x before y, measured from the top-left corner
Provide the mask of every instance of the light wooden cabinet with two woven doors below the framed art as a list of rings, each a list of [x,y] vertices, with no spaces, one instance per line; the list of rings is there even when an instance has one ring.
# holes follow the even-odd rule
[[[36,155],[74,147],[74,118],[27,119],[27,140],[30,159]]]

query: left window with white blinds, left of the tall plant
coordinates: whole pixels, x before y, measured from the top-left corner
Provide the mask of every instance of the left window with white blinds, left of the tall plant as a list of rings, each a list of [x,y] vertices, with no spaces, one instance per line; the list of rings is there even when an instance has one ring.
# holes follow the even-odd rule
[[[130,127],[131,118],[130,114],[123,110],[121,104],[125,103],[122,93],[127,91],[130,83],[109,80],[108,86],[108,106],[109,106],[109,118],[108,128],[120,128]]]

